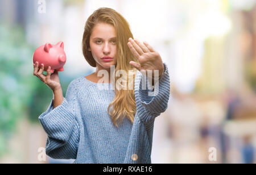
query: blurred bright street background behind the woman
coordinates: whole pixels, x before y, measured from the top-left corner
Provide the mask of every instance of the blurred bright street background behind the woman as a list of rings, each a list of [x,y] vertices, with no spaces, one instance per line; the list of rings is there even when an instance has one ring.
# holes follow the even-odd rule
[[[94,72],[81,41],[86,19],[110,7],[168,65],[168,109],[155,120],[152,163],[256,163],[255,0],[0,0],[0,163],[73,163],[44,156],[38,116],[52,91],[32,55],[64,42],[63,93]]]

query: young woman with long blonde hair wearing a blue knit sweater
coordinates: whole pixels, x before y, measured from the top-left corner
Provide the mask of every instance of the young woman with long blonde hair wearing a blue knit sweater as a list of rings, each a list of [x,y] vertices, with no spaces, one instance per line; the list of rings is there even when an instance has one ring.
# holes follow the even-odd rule
[[[34,75],[53,91],[48,109],[39,116],[48,135],[47,155],[76,159],[74,163],[151,163],[154,120],[167,109],[170,95],[166,64],[149,44],[133,39],[123,16],[109,8],[89,16],[82,51],[96,72],[73,80],[65,98],[58,72],[51,74],[49,67],[45,76],[43,65],[34,64]],[[125,73],[117,76],[118,70]],[[107,83],[99,82],[102,72]],[[157,80],[155,89],[143,89],[143,80],[147,85]],[[134,83],[131,89],[129,82]],[[148,95],[153,90],[156,95]]]

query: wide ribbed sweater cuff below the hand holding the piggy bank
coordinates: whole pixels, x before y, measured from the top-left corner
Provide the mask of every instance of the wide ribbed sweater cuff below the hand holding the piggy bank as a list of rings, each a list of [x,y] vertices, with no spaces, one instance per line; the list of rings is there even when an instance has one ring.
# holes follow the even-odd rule
[[[53,99],[48,109],[39,116],[44,131],[51,138],[67,142],[75,124],[75,115],[69,110],[68,102],[64,98],[61,105],[53,109]]]

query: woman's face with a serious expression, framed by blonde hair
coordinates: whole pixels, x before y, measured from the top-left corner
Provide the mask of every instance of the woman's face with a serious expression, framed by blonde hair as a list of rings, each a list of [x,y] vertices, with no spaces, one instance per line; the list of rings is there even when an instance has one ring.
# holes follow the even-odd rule
[[[98,23],[94,26],[90,35],[90,48],[92,56],[96,61],[97,68],[110,69],[111,65],[117,62],[117,45],[116,45],[115,28],[107,23]],[[104,59],[111,57],[112,59]]]

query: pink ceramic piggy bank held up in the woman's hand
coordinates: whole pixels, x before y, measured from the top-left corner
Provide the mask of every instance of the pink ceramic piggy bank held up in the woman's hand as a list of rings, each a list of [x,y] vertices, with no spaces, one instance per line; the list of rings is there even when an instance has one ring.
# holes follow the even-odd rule
[[[33,55],[33,63],[38,61],[39,67],[41,64],[44,65],[44,70],[51,66],[51,73],[53,70],[63,71],[63,65],[66,62],[66,55],[64,52],[64,43],[60,41],[56,45],[46,43],[37,48]]]

